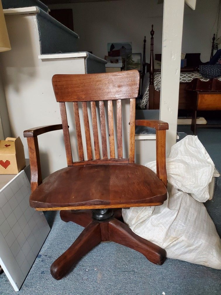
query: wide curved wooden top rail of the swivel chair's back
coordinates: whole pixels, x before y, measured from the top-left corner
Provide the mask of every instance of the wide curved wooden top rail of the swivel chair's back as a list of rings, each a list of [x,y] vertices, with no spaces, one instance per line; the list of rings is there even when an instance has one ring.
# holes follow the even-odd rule
[[[136,98],[139,72],[54,75],[53,89],[58,102],[100,101]]]

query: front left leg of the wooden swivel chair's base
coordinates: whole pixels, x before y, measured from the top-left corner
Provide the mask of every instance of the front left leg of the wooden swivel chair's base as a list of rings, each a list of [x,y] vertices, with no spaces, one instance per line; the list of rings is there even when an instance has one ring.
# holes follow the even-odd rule
[[[51,275],[56,280],[63,278],[77,262],[101,242],[100,224],[92,221],[75,242],[51,266]]]

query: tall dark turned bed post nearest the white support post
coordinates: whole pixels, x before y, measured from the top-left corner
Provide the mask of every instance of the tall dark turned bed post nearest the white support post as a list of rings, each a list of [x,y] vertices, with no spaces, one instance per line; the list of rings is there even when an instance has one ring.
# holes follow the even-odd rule
[[[149,109],[154,109],[154,25],[152,24],[150,45],[150,84],[149,84]],[[147,106],[146,106],[147,108]]]

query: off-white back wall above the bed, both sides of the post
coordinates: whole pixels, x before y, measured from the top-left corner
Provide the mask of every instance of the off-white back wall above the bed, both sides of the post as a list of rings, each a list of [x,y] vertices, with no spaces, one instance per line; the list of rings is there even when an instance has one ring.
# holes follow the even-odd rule
[[[197,0],[196,10],[185,5],[182,52],[201,53],[208,61],[219,0]],[[121,0],[54,4],[50,9],[72,8],[74,31],[80,36],[80,50],[93,51],[104,58],[108,42],[132,42],[133,52],[143,53],[146,35],[146,60],[149,60],[150,30],[154,24],[154,53],[161,53],[163,4],[157,0]],[[213,27],[214,24],[214,27]]]

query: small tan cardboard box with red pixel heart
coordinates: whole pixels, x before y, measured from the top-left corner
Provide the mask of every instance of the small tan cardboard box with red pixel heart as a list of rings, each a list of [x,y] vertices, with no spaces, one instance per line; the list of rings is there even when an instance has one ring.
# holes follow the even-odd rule
[[[17,174],[24,166],[24,147],[20,137],[0,140],[0,174]]]

